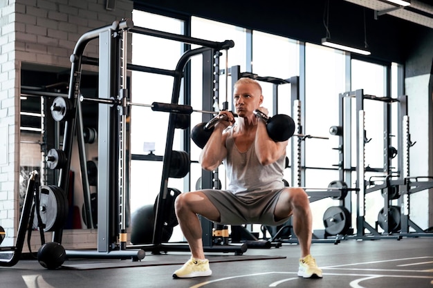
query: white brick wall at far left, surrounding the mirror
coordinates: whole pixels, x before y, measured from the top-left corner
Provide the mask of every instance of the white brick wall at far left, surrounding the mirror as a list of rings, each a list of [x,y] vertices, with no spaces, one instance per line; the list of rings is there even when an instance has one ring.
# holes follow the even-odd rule
[[[7,127],[9,143],[8,162],[0,164],[0,226],[6,230],[2,246],[15,245],[19,222],[21,63],[70,68],[69,57],[85,32],[131,18],[133,1],[116,0],[113,11],[105,10],[105,2],[0,0],[0,128]],[[98,57],[98,41],[91,41],[84,54]],[[37,247],[39,233],[33,236]],[[62,244],[65,248],[95,247],[95,239],[95,231],[84,229],[64,233]]]

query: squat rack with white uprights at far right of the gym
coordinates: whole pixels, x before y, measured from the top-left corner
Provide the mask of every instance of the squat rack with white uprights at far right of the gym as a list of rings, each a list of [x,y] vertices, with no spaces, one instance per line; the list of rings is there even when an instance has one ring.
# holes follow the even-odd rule
[[[340,179],[351,182],[351,173],[356,171],[356,194],[357,213],[355,236],[349,238],[356,239],[396,239],[400,240],[403,236],[433,236],[433,233],[425,233],[418,225],[409,219],[409,195],[433,187],[433,177],[410,177],[409,176],[409,148],[413,146],[409,133],[409,116],[407,115],[407,96],[401,95],[398,98],[376,97],[366,95],[362,89],[340,93],[339,95],[339,122],[340,126],[335,127],[335,135],[340,137]],[[351,166],[351,99],[356,102],[356,167]],[[365,135],[365,99],[376,102],[383,102],[383,167],[371,168],[365,165],[365,144],[369,141]],[[391,159],[395,157],[397,151],[391,146],[391,104],[397,103],[398,113],[398,166],[396,171],[391,171]],[[336,132],[338,131],[338,132]],[[366,172],[384,173],[380,184],[374,181],[374,177],[365,178]],[[382,213],[383,220],[380,226],[383,233],[378,232],[378,222],[376,227],[371,226],[365,220],[365,196],[367,193],[381,191],[384,198]],[[391,200],[397,200],[398,207],[391,206]],[[398,215],[395,215],[398,213]],[[393,227],[393,219],[398,216],[400,229]],[[415,233],[409,232],[409,227],[415,229]],[[368,230],[369,233],[365,233]],[[396,230],[398,233],[395,233]]]

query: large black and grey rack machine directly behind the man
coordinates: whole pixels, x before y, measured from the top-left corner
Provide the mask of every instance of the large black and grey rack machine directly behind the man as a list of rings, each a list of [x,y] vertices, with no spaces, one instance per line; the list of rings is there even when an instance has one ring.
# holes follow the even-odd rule
[[[127,35],[128,32],[136,32],[142,35],[162,37],[174,41],[182,41],[185,44],[197,44],[202,47],[194,50],[187,50],[179,59],[176,70],[165,70],[146,66],[137,66],[127,63]],[[99,58],[94,59],[83,55],[84,48],[89,41],[99,39]],[[167,141],[163,160],[163,175],[161,177],[160,193],[158,194],[158,204],[156,206],[156,219],[154,224],[153,242],[149,245],[132,245],[127,247],[127,225],[126,225],[126,200],[127,200],[127,154],[126,154],[126,117],[129,113],[128,90],[127,90],[127,70],[138,70],[148,73],[170,75],[174,77],[172,90],[172,104],[177,104],[181,93],[181,81],[184,76],[184,69],[191,57],[202,54],[203,63],[203,95],[212,95],[214,90],[214,64],[217,64],[219,50],[228,50],[234,46],[234,42],[226,40],[223,42],[207,41],[176,35],[168,32],[161,32],[146,28],[133,26],[129,19],[115,21],[110,26],[105,26],[91,30],[77,41],[73,55],[71,56],[71,79],[68,101],[68,113],[73,115],[65,120],[63,151],[66,154],[66,165],[59,171],[59,187],[64,190],[68,186],[68,172],[71,165],[71,146],[73,133],[75,132],[76,115],[80,111],[80,75],[82,64],[99,66],[98,82],[98,247],[96,251],[77,251],[67,250],[68,258],[132,258],[141,260],[145,257],[145,251],[150,249],[154,253],[159,251],[178,251],[187,250],[187,245],[169,245],[161,243],[161,233],[165,200],[167,199],[167,180],[169,178],[174,130],[176,128],[176,117],[178,113],[169,113],[169,124],[167,130]],[[218,74],[216,74],[218,75]],[[216,79],[217,80],[217,79]],[[215,84],[217,85],[217,83]],[[211,97],[209,97],[210,99]],[[113,105],[107,105],[107,104]],[[116,105],[115,105],[116,104]],[[211,102],[203,101],[203,111],[212,110]],[[181,114],[179,114],[181,115]],[[79,117],[80,118],[80,117]],[[210,115],[203,113],[203,120],[208,121]],[[187,137],[189,136],[187,131]],[[77,131],[80,134],[80,131]],[[187,146],[189,151],[189,146]],[[119,160],[119,161],[118,161]],[[81,165],[82,175],[85,177],[86,167]],[[204,173],[202,177],[203,187],[212,187],[212,177]],[[85,186],[85,185],[84,185]],[[91,221],[91,215],[88,222]],[[203,225],[203,223],[202,223]],[[204,227],[203,227],[204,228]],[[208,227],[206,227],[208,228]],[[203,229],[204,233],[208,233]],[[212,235],[212,234],[210,234]],[[53,233],[53,241],[61,242],[62,230],[58,229]],[[203,238],[203,243],[205,238]],[[212,251],[235,251],[243,253],[246,251],[245,245],[230,245],[228,247],[212,247],[210,243],[204,243],[205,250]]]

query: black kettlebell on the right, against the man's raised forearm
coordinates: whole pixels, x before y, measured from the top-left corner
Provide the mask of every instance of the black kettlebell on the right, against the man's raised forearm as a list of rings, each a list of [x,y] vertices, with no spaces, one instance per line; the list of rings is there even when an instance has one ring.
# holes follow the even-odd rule
[[[252,111],[252,113],[256,115],[256,117],[264,120],[266,123],[266,131],[270,139],[275,142],[284,142],[295,133],[295,121],[288,115],[277,114],[273,117],[268,117],[258,109]]]

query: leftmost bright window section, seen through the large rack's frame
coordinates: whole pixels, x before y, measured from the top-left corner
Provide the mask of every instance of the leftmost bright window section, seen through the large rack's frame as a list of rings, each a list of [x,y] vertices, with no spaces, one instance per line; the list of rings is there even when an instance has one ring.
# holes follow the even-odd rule
[[[133,10],[134,26],[182,35],[184,23],[178,19]],[[158,37],[134,34],[132,64],[174,70],[183,53],[183,43]],[[131,102],[151,104],[172,102],[173,77],[131,71]],[[168,113],[151,108],[131,107],[131,153],[164,155]],[[145,148],[147,143],[154,148]],[[152,146],[152,145],[151,145]],[[173,150],[181,150],[181,134],[174,135]],[[154,204],[160,191],[163,162],[131,161],[131,213],[145,204]],[[183,191],[183,180],[170,179],[169,186]],[[173,238],[172,238],[173,239]]]

